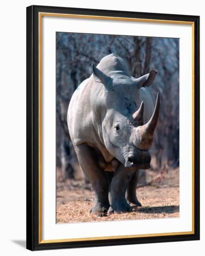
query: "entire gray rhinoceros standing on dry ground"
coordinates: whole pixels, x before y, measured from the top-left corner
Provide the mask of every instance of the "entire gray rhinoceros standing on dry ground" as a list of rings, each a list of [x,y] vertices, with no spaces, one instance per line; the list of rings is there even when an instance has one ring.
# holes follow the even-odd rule
[[[157,72],[131,76],[116,54],[92,65],[91,76],[76,89],[68,108],[68,129],[77,158],[94,190],[90,212],[98,216],[141,206],[136,196],[139,169],[150,168],[154,130],[160,111],[149,86]],[[144,111],[145,109],[145,111]]]

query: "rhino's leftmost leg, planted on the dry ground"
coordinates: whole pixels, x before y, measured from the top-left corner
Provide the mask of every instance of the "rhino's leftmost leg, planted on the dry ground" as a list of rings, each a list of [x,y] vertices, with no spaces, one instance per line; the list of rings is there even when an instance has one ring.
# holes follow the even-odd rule
[[[94,190],[94,205],[90,213],[104,216],[109,209],[109,182],[97,163],[96,151],[88,145],[76,147],[77,158],[84,174],[88,177]]]

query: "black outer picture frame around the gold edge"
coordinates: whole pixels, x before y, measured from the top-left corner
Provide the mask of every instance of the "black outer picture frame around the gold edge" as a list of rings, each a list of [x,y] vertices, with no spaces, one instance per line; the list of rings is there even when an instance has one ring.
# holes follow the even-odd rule
[[[185,235],[42,243],[39,238],[39,13],[65,13],[192,22],[194,26],[194,232]],[[29,250],[199,240],[199,16],[68,7],[26,9],[26,248]]]

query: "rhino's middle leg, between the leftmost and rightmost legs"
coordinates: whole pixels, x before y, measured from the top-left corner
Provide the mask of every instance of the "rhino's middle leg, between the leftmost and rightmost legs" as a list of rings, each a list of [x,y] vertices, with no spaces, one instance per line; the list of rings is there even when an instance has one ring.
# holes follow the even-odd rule
[[[116,212],[129,212],[132,210],[125,198],[125,192],[128,187],[129,181],[134,174],[134,170],[125,168],[121,163],[115,171],[115,175],[111,182],[111,208],[109,213]]]

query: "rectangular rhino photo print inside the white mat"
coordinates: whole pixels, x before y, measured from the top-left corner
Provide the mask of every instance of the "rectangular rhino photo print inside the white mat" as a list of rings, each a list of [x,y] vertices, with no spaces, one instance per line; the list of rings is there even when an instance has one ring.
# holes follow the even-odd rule
[[[179,217],[179,39],[56,32],[57,223]]]

